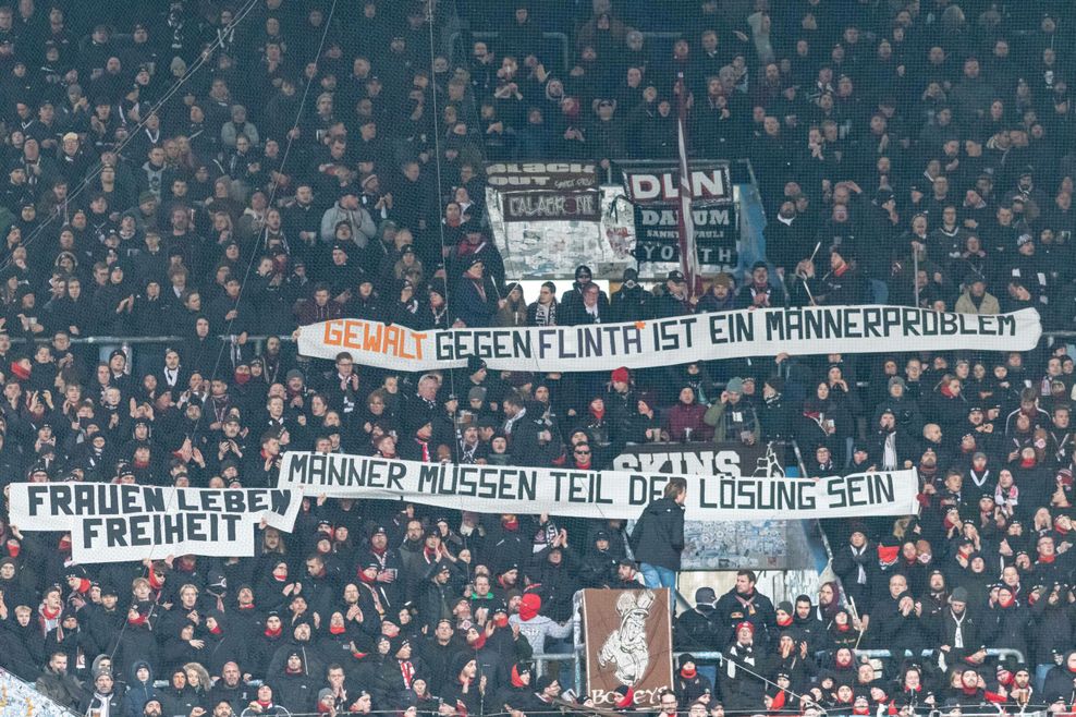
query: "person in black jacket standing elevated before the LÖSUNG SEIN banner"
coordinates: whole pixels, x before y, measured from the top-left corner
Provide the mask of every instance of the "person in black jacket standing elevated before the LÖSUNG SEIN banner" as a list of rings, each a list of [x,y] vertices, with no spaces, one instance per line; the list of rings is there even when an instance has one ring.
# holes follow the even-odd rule
[[[643,511],[632,531],[632,550],[647,587],[675,587],[684,550],[684,500],[687,482],[672,478],[664,495]]]

